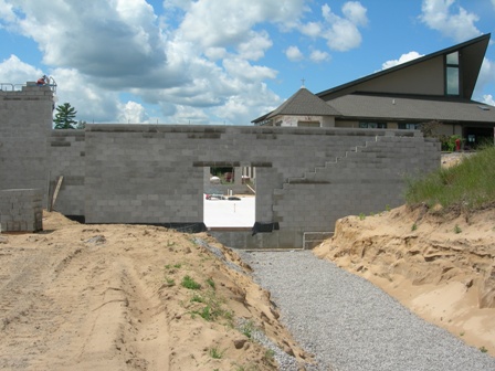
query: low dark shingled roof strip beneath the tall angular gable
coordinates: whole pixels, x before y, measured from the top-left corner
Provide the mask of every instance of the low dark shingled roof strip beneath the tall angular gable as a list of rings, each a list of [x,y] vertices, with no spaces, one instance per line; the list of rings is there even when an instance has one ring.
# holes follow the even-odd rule
[[[474,100],[349,94],[328,102],[341,117],[441,121],[495,121],[495,107]]]

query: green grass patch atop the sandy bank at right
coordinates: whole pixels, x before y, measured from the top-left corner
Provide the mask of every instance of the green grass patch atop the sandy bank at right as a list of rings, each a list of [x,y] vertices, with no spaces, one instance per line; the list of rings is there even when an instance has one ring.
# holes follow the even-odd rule
[[[436,204],[445,209],[476,210],[495,201],[495,147],[477,153],[447,169],[440,169],[423,179],[408,179],[406,200],[414,205]]]

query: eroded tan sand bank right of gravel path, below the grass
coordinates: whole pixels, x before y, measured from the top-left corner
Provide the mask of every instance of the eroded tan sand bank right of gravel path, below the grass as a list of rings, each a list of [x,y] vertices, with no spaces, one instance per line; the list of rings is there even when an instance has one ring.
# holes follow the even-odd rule
[[[347,216],[314,250],[495,356],[495,209]]]

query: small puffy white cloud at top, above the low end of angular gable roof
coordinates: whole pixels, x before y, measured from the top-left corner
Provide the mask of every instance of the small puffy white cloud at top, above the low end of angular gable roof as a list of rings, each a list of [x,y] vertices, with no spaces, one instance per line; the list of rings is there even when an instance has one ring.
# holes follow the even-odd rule
[[[344,18],[334,13],[328,4],[322,7],[322,14],[328,25],[328,29],[323,32],[323,36],[327,40],[329,49],[339,52],[360,45],[362,38],[358,25],[366,25],[368,22],[366,9],[359,2],[346,2],[343,13]]]

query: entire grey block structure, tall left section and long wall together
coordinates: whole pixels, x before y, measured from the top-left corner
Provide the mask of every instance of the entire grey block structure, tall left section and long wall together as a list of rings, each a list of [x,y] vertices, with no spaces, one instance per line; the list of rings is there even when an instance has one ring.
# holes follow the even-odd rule
[[[0,92],[0,189],[42,189],[48,204],[86,223],[203,224],[209,167],[254,167],[254,220],[232,247],[301,247],[304,232],[403,202],[404,176],[440,166],[440,144],[420,131],[253,126],[87,125],[52,130],[43,87]],[[41,113],[41,114],[40,114]],[[3,176],[7,174],[7,176]]]

